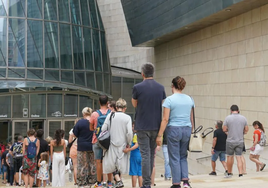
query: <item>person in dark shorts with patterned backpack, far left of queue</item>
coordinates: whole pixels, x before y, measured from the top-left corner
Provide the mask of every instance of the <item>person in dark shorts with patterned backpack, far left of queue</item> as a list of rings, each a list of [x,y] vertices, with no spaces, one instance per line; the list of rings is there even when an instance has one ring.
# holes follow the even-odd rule
[[[22,146],[23,146],[23,136],[19,135],[17,142],[15,142],[11,148],[9,153],[13,156],[14,160],[14,173],[15,173],[15,182],[16,185],[19,185],[19,171],[22,166]]]

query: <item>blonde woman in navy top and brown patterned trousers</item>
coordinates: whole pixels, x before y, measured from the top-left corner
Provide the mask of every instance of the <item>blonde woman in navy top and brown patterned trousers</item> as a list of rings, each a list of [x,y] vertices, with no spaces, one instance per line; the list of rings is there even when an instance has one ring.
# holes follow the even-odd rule
[[[89,119],[92,109],[85,107],[80,119],[73,128],[77,138],[77,185],[91,186],[97,181],[94,153],[92,151],[93,131],[89,130]]]

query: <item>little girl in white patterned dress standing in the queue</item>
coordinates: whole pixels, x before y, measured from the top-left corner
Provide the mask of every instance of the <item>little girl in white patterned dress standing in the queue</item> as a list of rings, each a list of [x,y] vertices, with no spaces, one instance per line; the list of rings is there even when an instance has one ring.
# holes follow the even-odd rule
[[[46,181],[49,179],[48,176],[48,164],[49,164],[49,157],[47,152],[43,152],[40,155],[40,159],[38,161],[39,166],[39,172],[37,179],[41,180],[43,182],[43,186],[46,186]]]

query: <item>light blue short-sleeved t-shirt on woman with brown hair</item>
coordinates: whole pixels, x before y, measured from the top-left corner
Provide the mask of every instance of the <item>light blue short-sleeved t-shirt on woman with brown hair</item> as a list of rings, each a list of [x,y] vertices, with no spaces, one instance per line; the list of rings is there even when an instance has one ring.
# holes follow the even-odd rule
[[[174,93],[166,98],[163,107],[170,109],[168,126],[192,127],[190,118],[194,101],[190,96]]]

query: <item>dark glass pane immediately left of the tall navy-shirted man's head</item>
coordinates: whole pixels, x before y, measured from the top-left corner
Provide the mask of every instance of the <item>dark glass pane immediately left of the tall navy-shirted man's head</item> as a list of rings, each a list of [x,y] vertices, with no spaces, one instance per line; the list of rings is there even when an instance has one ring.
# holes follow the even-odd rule
[[[133,78],[123,78],[123,99],[127,102],[127,112],[134,112],[134,107],[131,104],[132,88],[134,86]]]

